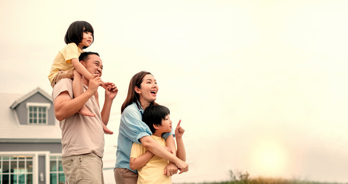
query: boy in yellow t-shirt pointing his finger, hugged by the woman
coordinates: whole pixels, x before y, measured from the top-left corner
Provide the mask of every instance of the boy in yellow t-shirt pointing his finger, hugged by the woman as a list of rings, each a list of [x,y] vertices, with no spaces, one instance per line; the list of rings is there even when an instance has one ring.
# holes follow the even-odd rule
[[[166,146],[166,141],[161,137],[162,133],[172,131],[172,121],[169,119],[170,111],[161,105],[148,106],[144,110],[143,122],[146,123],[151,132],[151,137],[159,144]],[[180,121],[175,129],[177,143],[176,156],[186,160],[185,148],[182,141],[182,134],[185,130],[180,127]],[[129,165],[132,170],[138,170],[137,183],[172,183],[170,176],[164,174],[169,160],[158,157],[147,151],[141,144],[132,145]]]

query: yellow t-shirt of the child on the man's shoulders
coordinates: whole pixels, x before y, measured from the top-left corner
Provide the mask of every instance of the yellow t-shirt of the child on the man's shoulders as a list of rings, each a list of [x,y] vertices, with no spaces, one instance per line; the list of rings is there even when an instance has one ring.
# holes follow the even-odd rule
[[[59,71],[71,71],[74,70],[73,63],[71,60],[73,58],[79,58],[81,53],[84,51],[77,47],[76,43],[69,43],[60,50],[57,56],[54,58],[51,71],[48,76],[50,82],[52,83],[54,77],[56,77]]]

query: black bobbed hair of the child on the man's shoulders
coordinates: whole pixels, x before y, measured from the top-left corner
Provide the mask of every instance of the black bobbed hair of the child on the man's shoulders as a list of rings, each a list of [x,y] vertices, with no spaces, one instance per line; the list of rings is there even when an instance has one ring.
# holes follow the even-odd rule
[[[69,28],[67,28],[67,31],[65,33],[64,41],[66,44],[68,43],[76,43],[76,45],[79,45],[81,43],[83,38],[83,32],[91,32],[92,33],[92,43],[94,42],[94,31],[93,27],[86,21],[74,21]],[[92,44],[90,43],[90,44]],[[86,49],[87,47],[83,46],[82,49]]]

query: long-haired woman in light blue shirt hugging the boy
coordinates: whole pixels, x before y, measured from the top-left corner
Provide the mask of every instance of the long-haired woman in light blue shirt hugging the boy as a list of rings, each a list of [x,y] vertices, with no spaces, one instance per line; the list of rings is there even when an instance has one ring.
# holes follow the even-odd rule
[[[116,164],[114,177],[117,184],[136,183],[137,171],[131,170],[129,156],[132,144],[142,144],[153,154],[168,159],[165,173],[168,176],[177,173],[177,170],[186,172],[189,165],[175,156],[175,152],[169,152],[165,147],[154,141],[150,135],[150,128],[142,121],[143,112],[149,105],[157,105],[155,102],[158,86],[155,78],[149,72],[135,74],[129,83],[128,94],[121,107],[121,122],[119,128],[118,147],[116,152]],[[166,133],[166,145],[175,150],[173,132]],[[172,151],[173,152],[173,151]]]

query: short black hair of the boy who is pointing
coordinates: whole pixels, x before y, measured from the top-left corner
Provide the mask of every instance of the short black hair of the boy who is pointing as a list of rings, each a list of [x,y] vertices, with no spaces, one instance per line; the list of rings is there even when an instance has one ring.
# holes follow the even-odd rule
[[[153,125],[162,126],[162,119],[170,114],[169,108],[163,105],[150,105],[146,107],[143,114],[143,122],[149,126],[152,133],[155,133]]]

